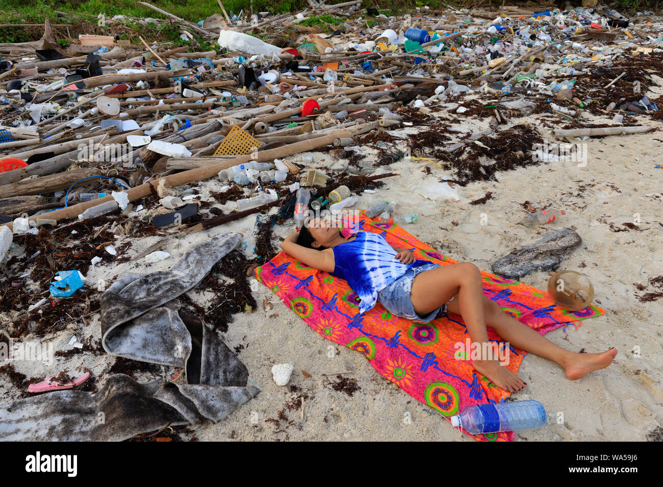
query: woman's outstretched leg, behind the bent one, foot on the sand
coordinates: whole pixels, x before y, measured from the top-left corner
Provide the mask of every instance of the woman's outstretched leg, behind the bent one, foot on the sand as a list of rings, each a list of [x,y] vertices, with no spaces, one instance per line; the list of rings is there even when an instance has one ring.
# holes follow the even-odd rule
[[[579,379],[589,372],[605,368],[617,355],[617,349],[603,353],[575,353],[558,347],[540,333],[505,313],[498,303],[483,297],[483,313],[486,324],[493,327],[503,341],[518,349],[548,358],[564,368],[570,379]],[[447,305],[448,311],[462,316],[461,307],[454,299]],[[464,317],[463,317],[464,321]]]

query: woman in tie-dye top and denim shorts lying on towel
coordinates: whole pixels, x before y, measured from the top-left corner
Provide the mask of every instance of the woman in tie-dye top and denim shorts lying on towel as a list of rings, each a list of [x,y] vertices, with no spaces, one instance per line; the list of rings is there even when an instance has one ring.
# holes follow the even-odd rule
[[[478,354],[473,367],[508,392],[518,392],[526,383],[500,366],[499,357],[491,352],[487,326],[510,345],[556,362],[570,379],[609,366],[617,355],[614,347],[580,354],[554,345],[486,298],[479,268],[469,262],[440,266],[416,260],[409,250],[391,246],[375,233],[360,231],[345,239],[337,227],[320,218],[287,237],[281,248],[307,266],[347,281],[361,299],[360,312],[380,301],[393,315],[419,323],[446,311],[460,315],[472,343],[487,344],[474,347]]]

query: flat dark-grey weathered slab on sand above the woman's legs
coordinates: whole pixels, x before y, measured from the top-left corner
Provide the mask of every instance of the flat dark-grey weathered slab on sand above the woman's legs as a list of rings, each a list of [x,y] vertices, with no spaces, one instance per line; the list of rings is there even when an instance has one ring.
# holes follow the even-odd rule
[[[572,229],[552,231],[539,241],[497,260],[491,270],[493,274],[507,279],[520,279],[537,270],[557,270],[564,254],[581,243],[580,235]]]

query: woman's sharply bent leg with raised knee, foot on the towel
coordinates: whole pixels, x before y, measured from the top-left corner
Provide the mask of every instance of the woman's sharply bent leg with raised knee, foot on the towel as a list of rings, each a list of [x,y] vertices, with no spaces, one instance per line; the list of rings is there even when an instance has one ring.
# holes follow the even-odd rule
[[[483,279],[479,268],[469,262],[450,264],[426,270],[412,282],[410,299],[418,315],[430,313],[453,296],[456,313],[463,317],[467,333],[477,343],[478,356],[472,360],[477,372],[485,375],[493,384],[509,392],[522,390],[525,383],[505,366],[501,366],[497,353],[489,345],[486,331]],[[488,344],[487,346],[482,346]]]

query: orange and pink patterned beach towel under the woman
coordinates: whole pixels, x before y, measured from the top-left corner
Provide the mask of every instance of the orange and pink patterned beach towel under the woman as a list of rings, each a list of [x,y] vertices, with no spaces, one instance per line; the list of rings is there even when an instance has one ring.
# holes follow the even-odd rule
[[[363,211],[358,227],[383,235],[394,246],[414,249],[418,259],[442,266],[457,263],[396,225],[372,221]],[[458,315],[447,313],[430,323],[414,323],[391,315],[380,303],[361,315],[357,296],[344,280],[307,267],[285,252],[256,268],[254,275],[320,335],[361,352],[380,374],[448,420],[466,406],[504,402],[510,396],[477,374],[469,356],[458,351],[456,345],[469,339]],[[604,313],[595,306],[566,311],[544,291],[488,272],[481,275],[485,296],[541,335],[571,323],[577,329],[580,320]],[[501,343],[490,327],[488,336]],[[511,347],[510,354],[509,370],[517,372],[525,352]],[[480,441],[512,441],[513,432],[471,436]]]

